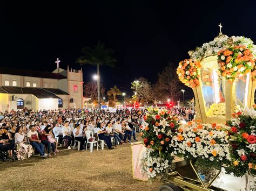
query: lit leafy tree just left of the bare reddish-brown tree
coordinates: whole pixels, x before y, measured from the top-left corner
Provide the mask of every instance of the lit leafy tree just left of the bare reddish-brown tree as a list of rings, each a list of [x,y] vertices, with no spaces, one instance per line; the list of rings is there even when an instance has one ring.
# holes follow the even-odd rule
[[[131,84],[131,89],[134,90],[134,93],[136,92],[136,96],[134,98],[145,101],[146,105],[153,100],[152,86],[147,79],[139,77],[138,82],[132,82]]]

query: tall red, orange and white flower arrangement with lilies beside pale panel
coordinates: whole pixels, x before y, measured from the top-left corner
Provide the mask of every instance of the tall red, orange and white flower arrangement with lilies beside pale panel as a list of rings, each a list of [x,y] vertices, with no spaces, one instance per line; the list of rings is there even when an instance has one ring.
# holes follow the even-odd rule
[[[147,149],[142,164],[143,171],[149,178],[165,176],[174,168],[172,150],[167,150],[167,147],[179,126],[178,120],[170,111],[157,108],[149,108],[149,112],[144,116],[145,123],[140,136]]]

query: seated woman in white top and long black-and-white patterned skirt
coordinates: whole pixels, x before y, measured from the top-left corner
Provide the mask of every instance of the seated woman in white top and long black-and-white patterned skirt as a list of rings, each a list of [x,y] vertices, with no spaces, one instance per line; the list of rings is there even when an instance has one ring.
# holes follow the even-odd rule
[[[16,128],[15,133],[15,145],[16,145],[16,154],[18,160],[24,160],[30,158],[33,154],[33,147],[27,142],[24,142],[24,134],[21,126]]]

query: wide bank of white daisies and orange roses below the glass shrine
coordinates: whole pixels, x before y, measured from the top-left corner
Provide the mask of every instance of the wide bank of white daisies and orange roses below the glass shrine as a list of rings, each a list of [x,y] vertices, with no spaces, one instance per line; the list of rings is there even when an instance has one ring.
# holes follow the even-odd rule
[[[196,166],[220,169],[229,159],[227,133],[224,125],[188,122],[180,126],[172,138],[173,155],[195,160]]]

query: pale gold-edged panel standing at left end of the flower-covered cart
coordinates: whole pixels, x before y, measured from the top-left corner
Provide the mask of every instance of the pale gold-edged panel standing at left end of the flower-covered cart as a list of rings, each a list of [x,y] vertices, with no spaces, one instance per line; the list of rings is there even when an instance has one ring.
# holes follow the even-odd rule
[[[147,181],[147,174],[142,172],[142,156],[145,146],[142,142],[132,143],[132,176],[134,179]]]

